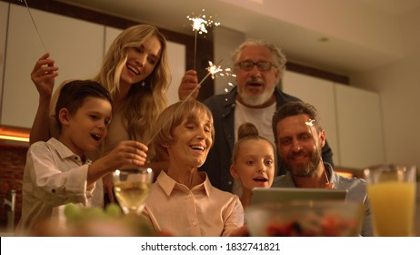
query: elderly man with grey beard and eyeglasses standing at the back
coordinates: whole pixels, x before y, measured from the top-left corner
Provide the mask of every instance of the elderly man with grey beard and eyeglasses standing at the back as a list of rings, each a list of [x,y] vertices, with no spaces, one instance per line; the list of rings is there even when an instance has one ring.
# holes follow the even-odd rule
[[[244,122],[254,123],[261,136],[275,144],[271,126],[275,110],[286,102],[301,100],[276,87],[285,73],[287,61],[279,47],[263,40],[247,39],[236,49],[232,60],[237,85],[229,93],[214,95],[204,102],[213,113],[215,143],[200,170],[207,172],[216,188],[240,195],[240,185],[229,171],[237,129]],[[193,90],[188,98],[196,98],[197,85],[195,70],[186,71],[178,88],[179,98],[185,99]],[[322,158],[333,165],[333,152],[328,144],[323,148]],[[285,172],[285,168],[277,164],[276,175]]]

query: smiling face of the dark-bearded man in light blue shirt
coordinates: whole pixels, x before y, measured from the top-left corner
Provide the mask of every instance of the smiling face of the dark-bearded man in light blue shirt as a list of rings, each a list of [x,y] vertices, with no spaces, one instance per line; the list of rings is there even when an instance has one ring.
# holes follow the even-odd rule
[[[308,119],[310,117],[306,114],[285,117],[275,127],[280,159],[295,177],[315,175],[325,145],[325,131],[308,126]]]

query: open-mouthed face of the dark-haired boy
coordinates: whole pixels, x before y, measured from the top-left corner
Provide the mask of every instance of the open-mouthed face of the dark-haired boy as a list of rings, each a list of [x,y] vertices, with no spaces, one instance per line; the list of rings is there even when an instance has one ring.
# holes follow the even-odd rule
[[[104,140],[111,116],[111,103],[99,97],[86,97],[75,114],[70,114],[66,108],[62,108],[59,111],[62,123],[59,140],[82,157],[86,151],[97,149]]]

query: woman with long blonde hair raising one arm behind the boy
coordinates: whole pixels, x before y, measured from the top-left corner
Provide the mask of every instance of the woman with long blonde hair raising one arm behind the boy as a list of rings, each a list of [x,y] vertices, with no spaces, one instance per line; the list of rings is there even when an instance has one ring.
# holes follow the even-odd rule
[[[58,67],[49,54],[38,59],[31,78],[39,92],[40,100],[31,129],[30,143],[56,137],[54,108],[60,88],[53,96]],[[167,106],[166,91],[171,81],[167,61],[166,39],[155,26],[136,25],[126,28],[109,47],[101,69],[93,78],[113,97],[113,120],[101,149],[88,155],[95,160],[115,148],[120,141],[136,140],[143,144],[152,139],[155,119]],[[49,123],[49,128],[45,128]],[[146,144],[145,144],[146,145]],[[128,148],[127,148],[128,149]],[[153,148],[145,150],[148,161],[155,160]],[[165,168],[157,164],[156,168]],[[105,193],[114,200],[106,181]],[[98,185],[102,190],[102,185]],[[98,195],[98,204],[102,204]]]

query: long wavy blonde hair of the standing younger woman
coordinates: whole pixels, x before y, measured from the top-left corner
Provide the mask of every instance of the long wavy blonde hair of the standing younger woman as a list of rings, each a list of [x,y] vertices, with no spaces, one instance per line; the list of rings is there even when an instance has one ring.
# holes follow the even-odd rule
[[[161,57],[153,72],[145,78],[144,86],[134,84],[122,109],[129,138],[145,142],[152,136],[155,119],[167,107],[166,91],[171,82],[167,61],[166,39],[155,26],[136,25],[126,28],[117,36],[105,55],[95,81],[102,84],[112,97],[120,89],[120,76],[130,47],[138,47],[151,36],[156,36],[162,46]]]

